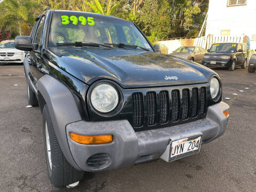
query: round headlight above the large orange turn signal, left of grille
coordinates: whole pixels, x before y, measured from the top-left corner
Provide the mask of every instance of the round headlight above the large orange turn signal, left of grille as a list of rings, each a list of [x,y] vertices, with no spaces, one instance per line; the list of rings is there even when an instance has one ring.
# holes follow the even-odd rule
[[[91,103],[101,113],[114,110],[118,104],[118,93],[115,87],[108,83],[96,85],[91,92]]]

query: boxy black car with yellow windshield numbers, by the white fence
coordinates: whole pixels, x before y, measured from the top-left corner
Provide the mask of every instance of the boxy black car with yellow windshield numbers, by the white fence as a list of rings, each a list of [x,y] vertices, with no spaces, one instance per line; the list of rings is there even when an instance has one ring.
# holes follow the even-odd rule
[[[206,67],[221,67],[233,71],[237,66],[244,69],[247,65],[246,43],[215,43],[207,51],[203,59]]]

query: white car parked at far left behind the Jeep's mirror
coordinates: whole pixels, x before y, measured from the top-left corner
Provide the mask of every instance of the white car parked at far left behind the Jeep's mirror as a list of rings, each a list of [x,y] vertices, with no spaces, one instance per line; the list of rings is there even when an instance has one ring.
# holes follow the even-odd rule
[[[0,63],[22,63],[25,52],[15,49],[15,42],[8,40],[0,42]]]

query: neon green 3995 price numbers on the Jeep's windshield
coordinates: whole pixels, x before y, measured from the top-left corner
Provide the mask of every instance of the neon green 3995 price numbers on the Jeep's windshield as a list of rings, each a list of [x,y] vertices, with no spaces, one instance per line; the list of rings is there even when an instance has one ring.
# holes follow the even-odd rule
[[[78,21],[80,21],[80,22],[78,22]],[[83,26],[85,26],[86,23],[89,26],[94,26],[95,25],[95,21],[93,20],[92,17],[87,17],[87,20],[86,20],[86,18],[83,17],[83,16],[79,16],[77,18],[75,15],[71,15],[70,17],[68,17],[68,15],[61,15],[61,24],[62,25],[69,25],[69,23],[71,23],[73,25],[83,25]]]

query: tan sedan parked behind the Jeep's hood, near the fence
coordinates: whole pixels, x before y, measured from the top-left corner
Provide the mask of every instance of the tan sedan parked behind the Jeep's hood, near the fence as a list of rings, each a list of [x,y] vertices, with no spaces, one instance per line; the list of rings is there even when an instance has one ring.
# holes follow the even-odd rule
[[[201,64],[204,58],[204,54],[206,52],[207,51],[203,47],[182,46],[182,47],[179,47],[177,50],[173,51],[171,55],[175,55],[177,57],[195,61]]]

